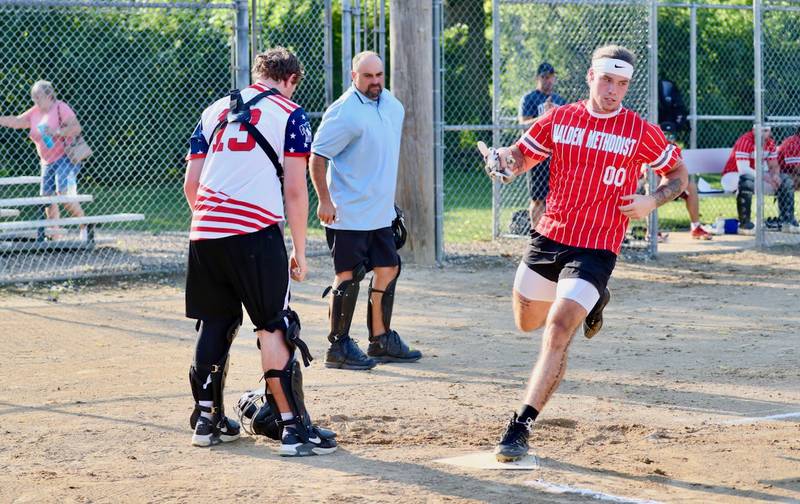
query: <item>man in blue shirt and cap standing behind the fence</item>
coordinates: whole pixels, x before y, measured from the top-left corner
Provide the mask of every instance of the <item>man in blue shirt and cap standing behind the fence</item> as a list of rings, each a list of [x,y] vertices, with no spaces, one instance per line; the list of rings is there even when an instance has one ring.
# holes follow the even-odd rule
[[[544,62],[536,70],[536,89],[522,97],[519,103],[519,123],[530,127],[537,117],[550,110],[564,105],[566,101],[553,92],[556,85],[556,70],[550,63]],[[535,170],[527,172],[528,191],[531,203],[528,207],[530,229],[536,227],[539,218],[544,214],[545,199],[550,189],[550,160],[543,161]]]

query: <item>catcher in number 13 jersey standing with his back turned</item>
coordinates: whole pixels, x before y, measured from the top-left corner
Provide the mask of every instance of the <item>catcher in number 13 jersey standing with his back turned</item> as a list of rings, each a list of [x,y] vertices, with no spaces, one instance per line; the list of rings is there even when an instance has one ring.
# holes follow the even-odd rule
[[[235,120],[228,119],[233,95],[203,111],[186,156],[184,193],[192,209],[186,316],[198,320],[189,369],[195,399],[192,444],[239,437],[240,426],[225,416],[223,389],[244,305],[255,326],[268,389],[271,417],[264,423],[280,433],[275,434],[281,436],[280,454],[331,453],[335,434],[318,430],[305,408],[295,347],[306,365],[310,355],[299,338],[299,317],[289,307],[290,278],[299,282],[306,275],[306,166],[313,139],[305,112],[290,99],[303,67],[294,54],[277,47],[256,56],[253,76],[257,82],[241,90]],[[276,164],[256,132],[272,147]],[[291,257],[280,227],[284,214],[292,233]]]

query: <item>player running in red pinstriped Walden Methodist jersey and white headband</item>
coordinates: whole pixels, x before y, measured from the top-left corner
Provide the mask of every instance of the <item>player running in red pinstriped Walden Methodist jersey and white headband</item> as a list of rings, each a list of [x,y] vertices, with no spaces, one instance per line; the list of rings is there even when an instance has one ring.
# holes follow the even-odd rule
[[[528,452],[533,421],[564,376],[577,328],[592,337],[610,299],[606,288],[629,219],[675,199],[686,167],[661,129],[622,106],[635,57],[621,46],[592,55],[589,99],[559,107],[513,146],[498,149],[500,168],[522,173],[550,158],[550,192],[514,280],[517,327],[545,326],[522,407],[495,450],[502,462]],[[642,164],[662,177],[652,195],[636,194]]]

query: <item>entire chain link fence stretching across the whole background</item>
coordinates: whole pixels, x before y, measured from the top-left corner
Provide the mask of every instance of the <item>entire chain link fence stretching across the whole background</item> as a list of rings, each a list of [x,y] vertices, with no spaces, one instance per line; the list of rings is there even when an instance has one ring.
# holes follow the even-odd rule
[[[475,143],[505,145],[520,136],[520,99],[534,89],[543,61],[558,72],[556,92],[574,101],[586,97],[591,51],[625,44],[640,60],[626,106],[651,115],[657,87],[646,77],[655,75],[648,67],[650,47],[657,47],[658,78],[675,83],[686,104],[688,127],[673,132],[681,147],[731,149],[759,118],[777,144],[790,139],[800,126],[797,4],[758,4],[755,23],[744,1],[661,3],[651,44],[648,0],[434,0],[439,257],[451,246],[526,234],[524,225],[514,229],[515,215],[525,220],[530,201],[526,180],[493,186]],[[37,222],[45,200],[36,199],[35,148],[26,129],[0,129],[0,283],[183,268],[190,219],[183,157],[202,107],[247,80],[248,53],[280,44],[305,64],[294,98],[316,129],[350,84],[353,54],[375,50],[388,70],[388,18],[385,0],[0,0],[0,37],[13,48],[0,62],[0,115],[29,109],[35,81],[54,83],[94,150],[77,192],[98,226],[87,243],[77,221]],[[761,112],[753,106],[754,62],[763,66]],[[719,173],[700,177],[704,187],[720,187]],[[309,190],[311,234],[321,237]],[[755,239],[795,243],[797,235],[775,228],[775,197],[760,186],[756,193]],[[796,200],[796,192],[790,197]],[[61,214],[70,218],[63,207]],[[735,218],[736,197],[704,195],[700,214],[704,223]],[[101,222],[107,216],[118,222]],[[690,220],[677,201],[660,209],[658,226],[687,230]],[[647,228],[655,226],[633,223],[628,246],[652,247],[642,239]]]

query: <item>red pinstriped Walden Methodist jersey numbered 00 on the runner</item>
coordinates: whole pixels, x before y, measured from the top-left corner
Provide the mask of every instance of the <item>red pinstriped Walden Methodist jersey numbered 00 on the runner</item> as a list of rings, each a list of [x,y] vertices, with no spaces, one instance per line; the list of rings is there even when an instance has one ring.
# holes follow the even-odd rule
[[[551,158],[550,192],[536,231],[564,245],[615,254],[629,220],[619,211],[628,203],[620,197],[636,192],[642,164],[663,175],[679,159],[658,126],[623,107],[598,114],[588,102],[552,110],[517,147],[537,162]]]

